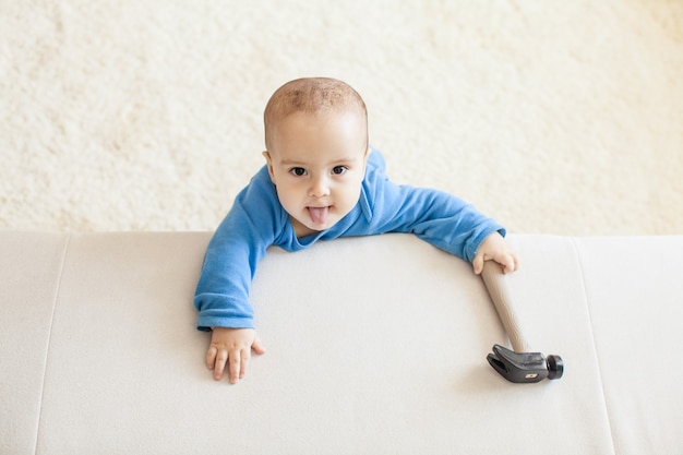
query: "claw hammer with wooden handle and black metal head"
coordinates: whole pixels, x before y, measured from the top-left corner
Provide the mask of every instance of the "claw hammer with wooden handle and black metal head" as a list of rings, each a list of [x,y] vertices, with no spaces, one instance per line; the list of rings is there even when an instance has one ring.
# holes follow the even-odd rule
[[[507,277],[494,261],[487,261],[481,273],[483,283],[493,300],[503,327],[512,343],[510,350],[501,345],[493,345],[493,352],[487,360],[495,371],[510,382],[531,383],[548,378],[556,380],[564,373],[562,357],[541,352],[529,352],[529,347],[522,334],[519,320],[511,304],[511,292],[507,289]]]

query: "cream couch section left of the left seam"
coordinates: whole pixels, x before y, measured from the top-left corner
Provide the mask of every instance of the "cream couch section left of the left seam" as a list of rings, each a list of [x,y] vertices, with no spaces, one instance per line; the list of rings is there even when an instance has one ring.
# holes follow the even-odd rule
[[[68,236],[0,236],[0,453],[35,453]]]

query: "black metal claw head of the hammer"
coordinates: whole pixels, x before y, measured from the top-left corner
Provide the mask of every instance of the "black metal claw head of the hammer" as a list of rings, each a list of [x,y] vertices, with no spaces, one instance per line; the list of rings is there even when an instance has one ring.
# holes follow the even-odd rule
[[[555,380],[564,373],[564,362],[560,356],[515,352],[501,345],[493,345],[493,354],[489,354],[487,360],[503,378],[514,383],[539,382],[546,378]]]

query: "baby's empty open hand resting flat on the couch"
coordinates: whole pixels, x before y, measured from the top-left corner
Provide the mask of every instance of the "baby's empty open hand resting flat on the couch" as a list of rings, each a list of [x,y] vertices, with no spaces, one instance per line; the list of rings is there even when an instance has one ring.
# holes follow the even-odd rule
[[[235,384],[244,378],[252,349],[256,354],[265,352],[253,328],[214,327],[206,351],[206,367],[214,371],[216,381],[220,381],[228,367],[230,383]]]

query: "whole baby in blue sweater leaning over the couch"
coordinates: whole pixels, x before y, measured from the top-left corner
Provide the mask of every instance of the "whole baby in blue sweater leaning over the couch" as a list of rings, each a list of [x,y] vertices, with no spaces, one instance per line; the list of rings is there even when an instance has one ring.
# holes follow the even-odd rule
[[[264,112],[266,165],[237,196],[208,243],[194,306],[197,328],[212,331],[206,366],[230,383],[247,372],[251,351],[265,352],[253,324],[249,289],[271,246],[299,251],[317,240],[412,232],[472,263],[517,268],[505,229],[462,200],[397,185],[369,146],[360,95],[333,79],[288,82]]]

